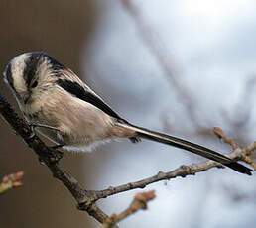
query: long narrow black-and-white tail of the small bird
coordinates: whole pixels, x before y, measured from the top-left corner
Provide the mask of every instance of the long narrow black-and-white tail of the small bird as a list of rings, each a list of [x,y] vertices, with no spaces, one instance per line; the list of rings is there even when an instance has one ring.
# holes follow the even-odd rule
[[[141,128],[141,127],[137,127],[131,124],[121,124],[123,127],[125,125],[125,128],[128,128],[130,130],[133,130],[136,132],[136,136],[144,138],[144,139],[148,139],[148,140],[152,140],[152,141],[156,141],[159,143],[163,143],[163,144],[168,144],[177,148],[181,148],[187,151],[190,151],[196,155],[200,155],[202,157],[205,157],[207,159],[216,161],[218,163],[221,163],[222,165],[234,170],[234,171],[239,171],[241,173],[244,174],[248,174],[251,175],[252,170],[237,163],[234,162],[233,160],[231,160],[230,158],[217,153],[215,151],[212,151],[208,148],[202,147],[200,145],[191,143],[189,141],[183,140],[183,139],[179,139],[170,135],[166,135],[163,133],[159,133],[159,132],[154,132],[145,128]]]

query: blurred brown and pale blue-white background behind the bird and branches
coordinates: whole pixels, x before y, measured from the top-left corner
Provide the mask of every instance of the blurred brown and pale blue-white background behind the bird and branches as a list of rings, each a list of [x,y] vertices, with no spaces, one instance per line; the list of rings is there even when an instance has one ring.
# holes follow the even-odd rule
[[[30,2],[30,3],[29,3]],[[12,57],[44,50],[136,125],[228,153],[211,133],[220,126],[241,146],[255,140],[256,2],[239,0],[0,0],[1,70]],[[10,16],[11,15],[11,16]],[[9,91],[0,82],[1,93]],[[13,101],[13,99],[12,99]],[[98,227],[75,209],[64,186],[0,122],[0,175],[25,171],[21,189],[0,198],[1,227]],[[64,168],[87,189],[138,180],[202,161],[143,141],[113,142],[64,156]],[[149,210],[120,227],[254,227],[255,177],[228,169],[150,185]],[[108,214],[137,190],[99,202]]]

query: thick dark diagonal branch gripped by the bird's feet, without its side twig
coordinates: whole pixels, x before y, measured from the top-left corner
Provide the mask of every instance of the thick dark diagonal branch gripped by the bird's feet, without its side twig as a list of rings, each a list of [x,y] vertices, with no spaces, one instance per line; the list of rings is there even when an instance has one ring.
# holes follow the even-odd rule
[[[77,204],[82,205],[78,208],[85,210],[89,215],[103,223],[108,218],[107,215],[100,210],[94,202],[91,202],[87,191],[79,185],[78,181],[59,165],[62,153],[47,147],[44,142],[34,134],[26,121],[15,113],[11,105],[2,95],[0,95],[0,113],[15,132],[34,150],[40,160],[47,165],[50,171],[52,171],[53,176],[64,183]]]

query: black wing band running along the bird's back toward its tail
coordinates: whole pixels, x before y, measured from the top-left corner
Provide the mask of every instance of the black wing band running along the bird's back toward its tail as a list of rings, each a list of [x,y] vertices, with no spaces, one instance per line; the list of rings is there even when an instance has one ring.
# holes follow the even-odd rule
[[[102,101],[99,97],[95,96],[89,90],[84,89],[77,82],[59,79],[57,83],[65,91],[67,91],[68,93],[71,93],[73,96],[76,96],[77,98],[94,105],[95,107],[102,110],[109,116],[112,116],[118,120],[121,120],[118,114],[116,114],[106,103],[104,103],[104,101]]]

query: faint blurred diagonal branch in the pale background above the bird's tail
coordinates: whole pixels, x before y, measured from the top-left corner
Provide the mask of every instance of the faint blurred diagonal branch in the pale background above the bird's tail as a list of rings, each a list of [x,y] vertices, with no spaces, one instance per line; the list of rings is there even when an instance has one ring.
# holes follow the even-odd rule
[[[181,70],[178,68],[175,58],[167,52],[164,42],[154,31],[141,10],[136,6],[134,0],[120,0],[124,9],[129,13],[135,22],[139,35],[144,44],[149,48],[159,65],[164,70],[164,76],[170,86],[175,91],[178,100],[183,104],[185,112],[188,113],[194,127],[201,127],[201,120],[196,113],[196,103],[190,88],[182,80]]]

